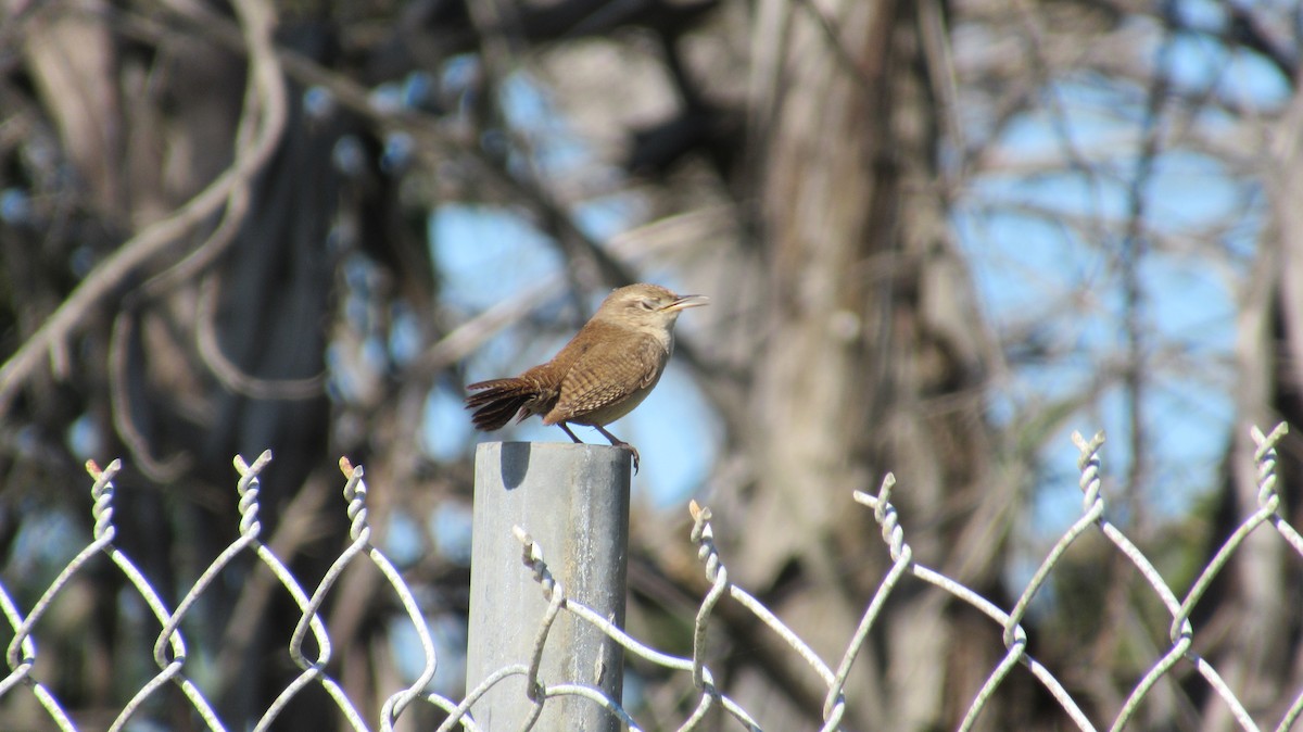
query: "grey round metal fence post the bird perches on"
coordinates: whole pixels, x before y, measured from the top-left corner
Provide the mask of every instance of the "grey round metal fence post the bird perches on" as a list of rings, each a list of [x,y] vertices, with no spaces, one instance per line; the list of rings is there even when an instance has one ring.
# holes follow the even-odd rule
[[[624,625],[629,455],[609,445],[482,443],[476,451],[466,690],[512,664],[529,664],[547,607],[521,561],[512,528],[543,548],[566,597]],[[539,681],[581,684],[620,702],[623,649],[562,612],[547,637]],[[520,729],[532,712],[525,677],[495,685],[473,707],[486,732]],[[615,732],[619,720],[573,696],[550,698],[534,729]]]

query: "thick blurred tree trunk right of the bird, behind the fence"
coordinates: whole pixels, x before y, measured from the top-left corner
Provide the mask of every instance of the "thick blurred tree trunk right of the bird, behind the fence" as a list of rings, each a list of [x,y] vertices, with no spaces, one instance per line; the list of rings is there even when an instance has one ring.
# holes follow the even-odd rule
[[[747,422],[752,514],[732,565],[834,668],[889,565],[851,491],[876,491],[889,470],[907,525],[926,528],[906,535],[915,556],[999,597],[1007,496],[984,492],[994,491],[980,399],[988,344],[947,240],[932,86],[945,70],[925,52],[949,43],[926,38],[943,33],[939,16],[924,22],[942,12],[859,0],[757,8],[752,142],[769,326]],[[848,684],[851,728],[959,723],[1003,646],[988,620],[968,628],[969,612],[946,610],[939,593],[896,591]],[[743,688],[743,705],[774,728],[809,719],[809,709],[778,716],[770,707],[791,701],[758,675]],[[822,703],[817,684],[800,694],[801,706]],[[982,720],[1014,728],[1009,712],[997,702]]]

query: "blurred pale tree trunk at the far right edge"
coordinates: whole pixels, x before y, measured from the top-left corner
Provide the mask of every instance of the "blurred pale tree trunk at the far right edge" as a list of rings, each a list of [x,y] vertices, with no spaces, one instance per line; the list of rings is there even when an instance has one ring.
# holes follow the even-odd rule
[[[1274,218],[1239,307],[1239,374],[1230,470],[1222,487],[1204,561],[1210,561],[1231,533],[1259,508],[1259,474],[1250,436],[1256,425],[1269,432],[1287,422],[1280,445],[1276,490],[1281,514],[1291,526],[1303,521],[1303,94],[1276,126],[1274,169],[1265,176]],[[1231,555],[1196,606],[1195,650],[1203,654],[1260,720],[1278,720],[1303,686],[1303,569],[1294,550],[1272,529],[1259,526]],[[1188,693],[1201,701],[1200,729],[1238,729],[1226,703],[1207,683],[1191,677]]]

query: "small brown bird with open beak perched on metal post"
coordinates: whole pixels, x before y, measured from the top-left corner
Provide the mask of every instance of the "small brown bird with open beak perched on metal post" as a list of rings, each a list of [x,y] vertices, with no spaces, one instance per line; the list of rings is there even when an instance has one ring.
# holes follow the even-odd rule
[[[679,311],[706,305],[702,294],[674,294],[659,285],[637,284],[612,292],[593,319],[551,361],[512,379],[478,382],[466,388],[476,427],[491,432],[533,414],[556,425],[580,443],[568,427],[589,425],[615,447],[638,451],[606,431],[642,402],[674,352],[674,322]]]

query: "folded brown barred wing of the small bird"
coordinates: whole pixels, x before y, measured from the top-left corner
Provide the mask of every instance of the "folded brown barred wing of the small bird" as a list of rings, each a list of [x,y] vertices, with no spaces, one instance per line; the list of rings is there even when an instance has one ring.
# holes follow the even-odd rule
[[[638,337],[632,348],[627,337],[595,339],[566,371],[560,399],[545,422],[582,419],[585,414],[646,389],[655,383],[668,357],[652,336]]]

